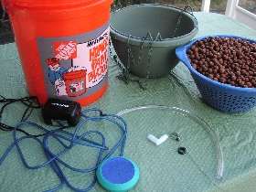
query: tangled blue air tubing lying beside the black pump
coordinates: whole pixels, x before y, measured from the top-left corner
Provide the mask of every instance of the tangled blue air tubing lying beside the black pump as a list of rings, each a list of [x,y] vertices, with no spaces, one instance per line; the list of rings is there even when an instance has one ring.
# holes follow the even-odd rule
[[[91,115],[91,113],[94,112]],[[108,148],[106,146],[106,138],[104,135],[99,132],[99,131],[84,131],[84,125],[88,124],[88,122],[108,122],[112,123],[113,125],[116,125],[119,130],[121,131],[121,137],[117,141],[116,144],[112,146],[112,148]],[[40,131],[44,132],[44,135],[41,139],[39,139],[35,135],[24,135],[21,137],[18,137],[16,132],[17,131],[24,131],[23,128],[25,126],[29,127],[34,127],[35,129],[38,129]],[[117,150],[119,150],[119,155],[123,156],[123,150],[124,150],[124,145],[127,137],[127,124],[124,122],[123,118],[117,115],[113,114],[104,114],[101,112],[101,110],[97,109],[91,109],[91,110],[84,110],[81,112],[81,120],[80,123],[76,126],[75,130],[73,133],[67,132],[65,130],[61,130],[62,126],[59,126],[59,129],[53,130],[53,131],[48,131],[46,128],[43,126],[37,124],[37,123],[32,123],[32,122],[21,122],[18,123],[16,127],[14,127],[13,130],[13,139],[14,142],[7,147],[5,150],[4,155],[0,156],[0,165],[5,161],[5,158],[9,153],[16,148],[18,155],[23,163],[28,169],[40,169],[45,166],[50,166],[52,171],[59,177],[59,185],[46,190],[45,192],[54,192],[59,190],[60,187],[62,187],[64,184],[69,187],[70,189],[76,191],[76,192],[87,192],[90,191],[92,187],[96,184],[96,174],[95,171],[97,170],[98,166],[101,164],[102,161],[106,160],[107,158],[111,157]],[[100,137],[100,142],[95,142],[92,141],[91,135],[97,135]],[[97,137],[97,138],[98,138]],[[59,153],[54,153],[51,148],[48,145],[49,138],[56,140],[61,146],[63,146],[63,150],[60,151]],[[25,156],[23,155],[23,152],[20,147],[20,143],[23,142],[24,140],[31,139],[35,140],[42,149],[44,150],[44,153],[47,157],[47,161],[39,164],[39,165],[29,165],[27,163],[27,160]],[[67,144],[68,143],[68,144]],[[78,168],[69,165],[68,163],[64,162],[60,157],[61,155],[66,154],[69,152],[70,149],[72,149],[74,146],[80,145],[80,146],[85,146],[85,147],[92,147],[98,150],[98,155],[97,155],[97,160],[95,162],[95,165],[92,167],[88,168]],[[61,165],[61,166],[60,166]],[[86,187],[86,188],[78,188],[74,187],[70,182],[69,178],[64,174],[63,167],[66,169],[68,168],[71,171],[78,172],[78,173],[83,173],[83,174],[91,174],[93,173],[93,180],[91,184]]]

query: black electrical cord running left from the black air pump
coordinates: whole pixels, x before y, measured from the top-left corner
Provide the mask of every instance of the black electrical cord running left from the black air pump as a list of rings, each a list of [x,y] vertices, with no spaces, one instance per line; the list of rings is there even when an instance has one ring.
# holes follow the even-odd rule
[[[15,130],[15,127],[10,126],[8,124],[5,124],[2,122],[2,115],[5,112],[5,108],[9,105],[12,105],[16,102],[21,102],[22,104],[24,104],[26,106],[25,111],[22,114],[21,120],[20,122],[26,122],[27,119],[31,116],[32,112],[35,109],[41,109],[41,106],[39,105],[39,102],[37,101],[37,97],[24,97],[24,98],[20,98],[20,99],[7,99],[5,98],[3,95],[0,95],[0,103],[4,103],[4,105],[0,108],[0,130],[4,131],[4,132],[12,132]],[[58,130],[63,130],[68,128],[69,126],[64,126],[61,123],[59,124],[59,129]],[[22,129],[16,129],[16,131],[21,132],[21,133],[25,133],[27,136],[33,136],[33,137],[41,137],[46,135],[46,133],[42,133],[42,134],[31,134],[31,133],[27,133],[26,131],[22,130]]]

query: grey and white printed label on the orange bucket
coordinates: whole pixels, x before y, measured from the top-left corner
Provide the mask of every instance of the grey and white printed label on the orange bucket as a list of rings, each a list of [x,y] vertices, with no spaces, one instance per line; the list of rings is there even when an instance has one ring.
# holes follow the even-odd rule
[[[107,81],[109,25],[76,37],[39,37],[48,96],[80,100]]]

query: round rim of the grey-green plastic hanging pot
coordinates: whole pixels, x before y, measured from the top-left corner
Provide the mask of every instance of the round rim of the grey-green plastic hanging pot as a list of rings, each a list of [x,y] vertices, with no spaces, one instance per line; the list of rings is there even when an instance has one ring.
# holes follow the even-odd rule
[[[145,39],[144,43],[145,44],[150,44],[150,43],[154,43],[155,47],[166,47],[169,46],[169,43],[176,43],[176,44],[180,44],[179,41],[180,39],[183,39],[185,37],[189,37],[189,36],[196,36],[197,32],[198,32],[198,21],[197,21],[197,17],[193,15],[193,13],[189,13],[187,10],[178,8],[176,6],[172,6],[172,5],[160,5],[160,4],[140,4],[140,5],[130,5],[130,6],[126,6],[123,7],[121,9],[115,10],[114,12],[112,12],[112,16],[114,16],[117,13],[120,13],[121,11],[123,11],[124,9],[128,9],[128,8],[133,8],[133,7],[138,7],[138,6],[149,6],[149,7],[153,7],[153,6],[162,6],[162,7],[167,7],[167,8],[171,8],[171,9],[175,9],[178,12],[184,12],[184,14],[186,14],[187,16],[189,16],[191,18],[191,20],[194,23],[194,28],[193,30],[191,30],[189,33],[183,35],[183,36],[179,36],[179,37],[168,37],[168,38],[163,38],[162,40],[148,40]],[[112,27],[112,23],[110,24],[110,28],[111,28],[111,33],[114,34],[116,37],[119,38],[130,38],[131,40],[133,40],[134,44],[140,44],[142,41],[142,37],[134,37],[132,35],[127,35],[124,34],[123,32],[118,31],[117,29],[115,29],[114,27]],[[130,41],[131,43],[131,41]],[[166,44],[166,45],[165,45]]]

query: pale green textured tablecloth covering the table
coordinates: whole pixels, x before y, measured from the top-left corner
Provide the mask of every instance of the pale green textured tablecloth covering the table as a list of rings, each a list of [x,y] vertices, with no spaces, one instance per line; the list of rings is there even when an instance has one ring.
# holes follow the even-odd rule
[[[226,16],[196,13],[199,32],[197,37],[232,34],[256,38],[256,31]],[[20,61],[15,44],[0,46],[0,93],[6,97],[27,96]],[[216,154],[209,134],[197,123],[173,112],[153,110],[134,112],[124,116],[128,123],[128,139],[125,155],[132,158],[141,169],[141,179],[133,191],[147,192],[201,192],[201,191],[255,191],[256,185],[256,119],[255,110],[244,114],[225,114],[215,111],[200,101],[194,81],[188,70],[180,63],[174,70],[180,77],[175,79],[147,80],[147,90],[138,89],[138,84],[124,84],[115,77],[119,73],[114,62],[110,63],[110,89],[105,96],[93,104],[104,112],[116,113],[123,109],[140,105],[157,104],[186,109],[205,119],[219,134],[223,147],[225,170],[224,178],[218,183],[216,174]],[[180,84],[180,82],[182,84]],[[3,120],[15,125],[23,107],[15,105],[6,109]],[[42,123],[40,112],[34,112],[30,121]],[[89,124],[85,129],[95,129]],[[28,131],[34,132],[33,130]],[[111,146],[118,137],[118,131],[109,124],[97,125],[107,137]],[[161,136],[179,132],[182,143],[168,140],[155,147],[147,141],[148,133]],[[12,134],[0,132],[0,154],[11,144]],[[177,155],[176,149],[184,145],[189,155]],[[32,140],[22,143],[24,154],[31,165],[43,162],[42,150]],[[94,160],[91,149],[75,147],[63,158],[71,165],[84,167]],[[192,160],[193,159],[193,160]],[[85,187],[91,179],[89,175],[79,175],[65,170],[70,182]],[[215,184],[214,184],[215,183]],[[46,167],[40,170],[27,170],[22,165],[16,150],[0,166],[0,191],[36,192],[47,190],[59,184],[57,176]],[[60,191],[69,191],[62,187]],[[98,185],[91,191],[104,191]]]

